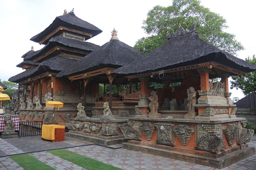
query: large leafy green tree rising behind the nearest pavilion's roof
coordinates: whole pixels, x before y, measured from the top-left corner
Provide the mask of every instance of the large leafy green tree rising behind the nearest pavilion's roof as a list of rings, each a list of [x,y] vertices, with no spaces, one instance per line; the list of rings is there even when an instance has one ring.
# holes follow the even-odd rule
[[[178,29],[179,24],[190,30],[195,23],[200,38],[235,55],[236,51],[244,49],[235,35],[226,33],[226,20],[217,13],[200,5],[199,0],[173,0],[168,7],[155,6],[148,12],[142,28],[149,35],[139,39],[135,48],[144,54],[156,49],[164,43],[166,37]]]

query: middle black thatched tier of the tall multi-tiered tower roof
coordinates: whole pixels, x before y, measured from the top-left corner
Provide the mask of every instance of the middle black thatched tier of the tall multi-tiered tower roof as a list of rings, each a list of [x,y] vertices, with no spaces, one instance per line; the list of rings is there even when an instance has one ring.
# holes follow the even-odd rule
[[[61,46],[61,47],[68,47],[68,48],[75,48],[78,50],[86,50],[86,51],[93,51],[97,48],[99,48],[99,45],[93,44],[91,42],[84,42],[79,40],[74,40],[70,38],[66,38],[63,36],[56,36],[52,37],[50,41],[44,46],[44,48],[35,51],[34,53],[28,54],[24,60],[33,60],[36,57],[46,53],[48,50],[52,49],[55,46]]]

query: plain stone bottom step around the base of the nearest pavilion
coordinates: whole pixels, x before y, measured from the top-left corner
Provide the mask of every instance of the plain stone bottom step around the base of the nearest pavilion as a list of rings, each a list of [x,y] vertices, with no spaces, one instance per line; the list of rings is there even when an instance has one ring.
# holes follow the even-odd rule
[[[143,152],[148,154],[153,154],[156,156],[161,156],[170,159],[177,159],[181,161],[191,162],[195,164],[200,164],[204,166],[210,166],[214,168],[224,168],[226,166],[232,165],[242,159],[250,157],[255,154],[255,148],[246,147],[241,148],[238,147],[234,152],[231,153],[223,153],[223,156],[220,158],[209,158],[205,156],[198,156],[189,153],[177,152],[168,150],[165,146],[157,145],[155,147],[145,146],[140,144],[140,142],[136,141],[128,141],[127,143],[123,143],[123,149],[128,149],[137,152]]]

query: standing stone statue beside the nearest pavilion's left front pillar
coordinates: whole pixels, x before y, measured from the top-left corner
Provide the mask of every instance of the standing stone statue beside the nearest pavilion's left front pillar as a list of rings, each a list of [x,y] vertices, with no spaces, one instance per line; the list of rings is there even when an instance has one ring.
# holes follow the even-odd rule
[[[161,114],[158,113],[158,106],[159,106],[158,96],[154,90],[150,93],[148,100],[150,100],[150,103],[148,105],[148,107],[150,108],[148,117],[149,118],[161,118]]]

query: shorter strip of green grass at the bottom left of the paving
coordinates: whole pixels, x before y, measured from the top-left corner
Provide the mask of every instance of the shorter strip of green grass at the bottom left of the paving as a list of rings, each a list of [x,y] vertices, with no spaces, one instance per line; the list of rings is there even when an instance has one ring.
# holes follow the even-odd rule
[[[28,154],[14,155],[14,156],[10,156],[10,158],[12,158],[17,164],[19,164],[21,167],[23,167],[26,170],[54,169],[51,166],[46,165],[44,162],[41,162],[40,160]]]

